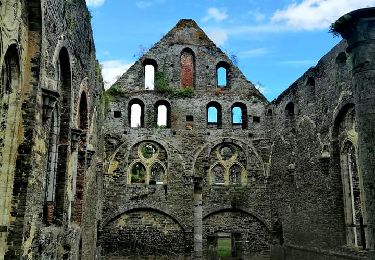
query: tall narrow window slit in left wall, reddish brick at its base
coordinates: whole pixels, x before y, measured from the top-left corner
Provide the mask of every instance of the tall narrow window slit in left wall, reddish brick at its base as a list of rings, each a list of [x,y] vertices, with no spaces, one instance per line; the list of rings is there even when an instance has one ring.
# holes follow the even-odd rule
[[[44,210],[43,210],[43,221],[46,224],[51,224],[55,219],[58,136],[59,136],[59,121],[58,121],[57,108],[55,107],[55,109],[52,112],[51,126],[50,126],[49,137],[48,137],[45,203],[44,203]]]

